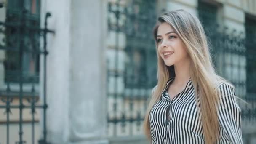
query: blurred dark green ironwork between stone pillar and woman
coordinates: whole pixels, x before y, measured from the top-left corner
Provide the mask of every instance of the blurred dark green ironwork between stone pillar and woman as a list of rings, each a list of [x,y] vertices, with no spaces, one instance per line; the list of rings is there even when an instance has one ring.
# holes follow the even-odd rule
[[[146,110],[148,90],[156,84],[157,61],[155,43],[152,37],[152,27],[156,23],[156,1],[127,0],[122,3],[119,0],[116,3],[110,2],[108,13],[109,32],[115,32],[115,47],[110,48],[115,51],[115,68],[107,71],[107,83],[110,83],[111,77],[114,78],[113,85],[108,84],[114,88],[114,92],[107,93],[109,99],[114,99],[113,104],[111,104],[113,112],[109,112],[113,113],[113,116],[108,115],[108,124],[113,125],[113,135],[117,135],[118,123],[121,125],[122,132],[125,131],[125,126],[128,124],[134,124],[137,128],[141,126],[144,115],[134,109],[134,103],[135,101],[142,102],[143,109]],[[123,44],[119,34],[125,35],[126,45],[124,48],[120,48]],[[125,60],[122,64],[124,69],[119,64],[122,61],[118,55],[120,52],[125,53]],[[123,80],[121,85],[118,81],[120,78]],[[118,91],[122,88],[124,91]],[[128,104],[126,109],[133,112],[133,116],[129,116],[125,112],[125,104]],[[132,135],[133,131],[136,130],[130,126],[128,131]]]

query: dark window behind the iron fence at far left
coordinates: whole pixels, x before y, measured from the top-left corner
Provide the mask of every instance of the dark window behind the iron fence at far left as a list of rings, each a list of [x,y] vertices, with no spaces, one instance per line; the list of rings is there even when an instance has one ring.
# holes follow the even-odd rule
[[[21,11],[25,8],[25,15],[21,16]],[[16,25],[23,22],[27,27],[40,27],[40,0],[8,0],[6,19],[13,27],[7,27],[5,31],[6,37],[6,60],[5,66],[5,82],[19,82],[19,69],[21,68],[20,59],[22,59],[22,70],[24,82],[39,81],[39,54],[31,53],[31,51],[39,50],[39,32],[33,29],[22,30]],[[21,54],[18,49],[26,45],[24,53]]]

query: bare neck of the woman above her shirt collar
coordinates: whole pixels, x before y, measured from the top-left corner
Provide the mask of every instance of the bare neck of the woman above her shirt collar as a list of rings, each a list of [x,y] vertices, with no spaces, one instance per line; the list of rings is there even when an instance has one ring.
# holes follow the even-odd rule
[[[186,59],[178,64],[174,65],[175,69],[175,79],[173,83],[177,85],[183,85],[187,83],[190,78],[190,60]]]

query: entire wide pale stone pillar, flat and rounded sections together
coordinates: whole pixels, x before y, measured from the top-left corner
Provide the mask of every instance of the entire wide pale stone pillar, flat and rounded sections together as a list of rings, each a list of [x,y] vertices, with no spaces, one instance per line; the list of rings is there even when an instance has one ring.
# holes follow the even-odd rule
[[[107,0],[44,0],[46,12],[55,31],[47,47],[48,142],[107,144]]]

